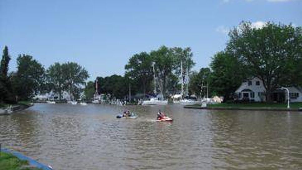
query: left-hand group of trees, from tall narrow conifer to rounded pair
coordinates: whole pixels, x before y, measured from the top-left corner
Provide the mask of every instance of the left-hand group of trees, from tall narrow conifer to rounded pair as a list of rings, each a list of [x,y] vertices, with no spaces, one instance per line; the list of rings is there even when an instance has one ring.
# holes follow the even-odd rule
[[[60,97],[65,90],[71,99],[78,98],[89,77],[88,72],[77,63],[55,63],[46,70],[41,63],[26,54],[17,57],[17,71],[8,72],[10,60],[11,56],[5,46],[0,65],[0,102],[30,100],[34,95],[50,90],[58,92]]]

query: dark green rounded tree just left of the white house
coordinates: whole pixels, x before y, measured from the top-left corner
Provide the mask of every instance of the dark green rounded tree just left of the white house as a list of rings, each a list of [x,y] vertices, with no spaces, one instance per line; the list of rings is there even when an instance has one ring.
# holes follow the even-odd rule
[[[245,68],[235,56],[224,51],[214,55],[210,67],[211,89],[217,95],[224,96],[225,100],[229,100],[232,93],[245,80],[247,76]]]

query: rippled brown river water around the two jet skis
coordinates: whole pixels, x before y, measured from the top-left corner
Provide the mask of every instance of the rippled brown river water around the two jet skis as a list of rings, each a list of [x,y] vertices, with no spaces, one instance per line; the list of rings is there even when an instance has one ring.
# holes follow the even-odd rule
[[[139,117],[116,119],[125,109]],[[302,169],[302,112],[35,104],[0,129],[2,146],[56,170]]]

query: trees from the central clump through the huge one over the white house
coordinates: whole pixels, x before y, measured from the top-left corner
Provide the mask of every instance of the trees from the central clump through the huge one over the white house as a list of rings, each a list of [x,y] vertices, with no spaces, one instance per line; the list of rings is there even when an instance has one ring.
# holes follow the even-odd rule
[[[180,92],[180,82],[188,73],[189,94],[185,95],[203,97],[208,93],[231,100],[243,81],[257,77],[266,89],[266,101],[270,102],[271,93],[277,88],[302,85],[301,30],[291,24],[267,22],[255,28],[251,22],[241,22],[229,32],[225,49],[212,57],[209,67],[199,71],[191,70],[195,63],[190,48],[161,46],[149,53],[134,54],[125,66],[124,76],[97,78],[98,93],[122,98],[131,85],[132,94],[152,94],[155,74],[157,89],[167,97]],[[94,88],[95,82],[90,85]]]

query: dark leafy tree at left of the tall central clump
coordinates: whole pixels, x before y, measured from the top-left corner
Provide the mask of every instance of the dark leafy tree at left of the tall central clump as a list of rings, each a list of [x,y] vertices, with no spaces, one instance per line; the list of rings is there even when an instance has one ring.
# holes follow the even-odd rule
[[[153,79],[152,58],[146,52],[133,55],[125,66],[125,77],[132,79],[138,88],[146,95],[146,90],[151,90],[150,84]]]

